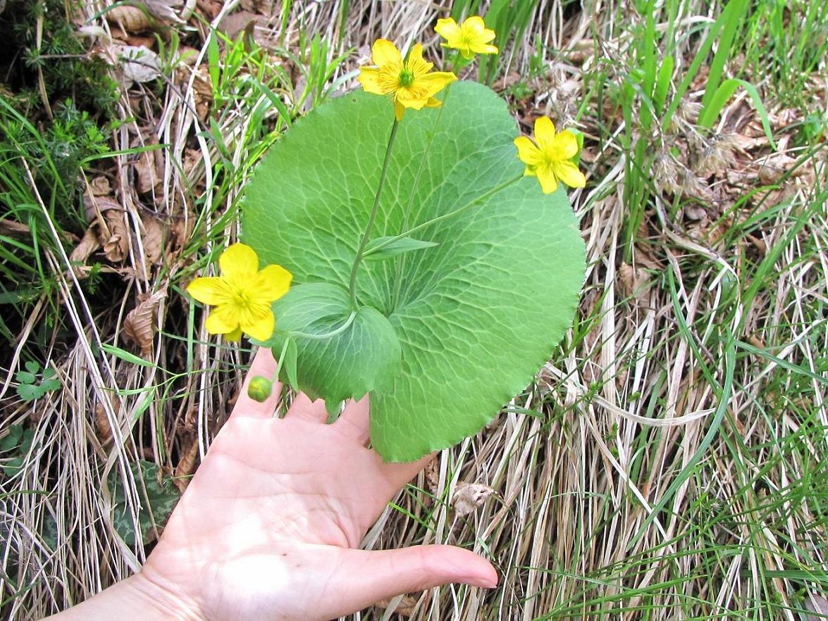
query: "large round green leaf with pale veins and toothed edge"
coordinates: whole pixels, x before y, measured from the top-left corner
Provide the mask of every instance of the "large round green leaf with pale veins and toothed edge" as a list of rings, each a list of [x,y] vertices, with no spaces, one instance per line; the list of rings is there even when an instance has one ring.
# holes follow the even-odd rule
[[[392,120],[388,100],[358,91],[296,123],[248,185],[244,241],[296,284],[347,289]],[[517,134],[505,103],[479,84],[452,85],[441,109],[407,112],[373,237],[402,232],[409,205],[410,227],[521,174]],[[359,302],[388,318],[402,346],[400,373],[371,394],[371,438],[385,459],[459,442],[532,381],[575,313],[576,225],[563,190],[544,195],[525,178],[416,232],[437,246],[363,263]]]

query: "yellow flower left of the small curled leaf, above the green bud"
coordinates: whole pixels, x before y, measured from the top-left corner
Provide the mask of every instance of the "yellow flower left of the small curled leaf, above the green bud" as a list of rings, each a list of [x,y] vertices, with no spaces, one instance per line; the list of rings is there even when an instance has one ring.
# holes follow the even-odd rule
[[[187,286],[187,293],[215,308],[207,318],[207,332],[238,341],[242,332],[267,341],[276,319],[271,303],[287,293],[293,276],[281,265],[258,269],[256,251],[233,244],[219,256],[220,276],[202,277]]]

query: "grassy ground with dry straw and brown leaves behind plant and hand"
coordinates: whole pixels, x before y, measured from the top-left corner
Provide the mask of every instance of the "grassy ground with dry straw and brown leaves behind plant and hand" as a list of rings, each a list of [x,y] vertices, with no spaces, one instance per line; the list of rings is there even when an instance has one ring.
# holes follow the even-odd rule
[[[503,53],[468,79],[585,132],[583,303],[537,381],[365,542],[465,545],[501,586],[359,618],[828,614],[828,6],[148,4],[142,27],[80,7],[81,49],[46,49],[54,12],[20,17],[29,50],[7,60],[25,75],[0,93],[3,619],[134,570],[155,537],[137,508],[161,525],[224,421],[248,355],[206,338],[182,287],[236,236],[263,150],[353,88],[376,37],[436,55],[436,18],[469,11]],[[113,89],[61,64],[55,84],[113,38],[161,77],[122,66]]]

